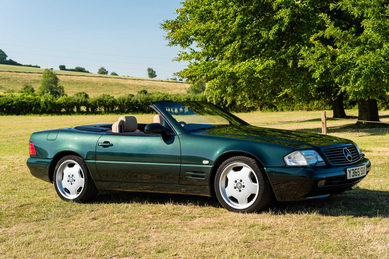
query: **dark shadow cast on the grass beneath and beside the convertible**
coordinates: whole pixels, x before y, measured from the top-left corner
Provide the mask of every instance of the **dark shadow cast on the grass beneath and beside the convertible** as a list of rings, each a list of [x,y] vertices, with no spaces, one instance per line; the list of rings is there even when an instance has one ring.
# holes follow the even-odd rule
[[[389,218],[389,192],[357,187],[327,198],[279,202],[273,198],[270,207],[257,213],[319,214],[323,216],[354,216]],[[169,193],[100,191],[94,202],[115,204],[179,204],[184,206],[223,208],[216,197]]]

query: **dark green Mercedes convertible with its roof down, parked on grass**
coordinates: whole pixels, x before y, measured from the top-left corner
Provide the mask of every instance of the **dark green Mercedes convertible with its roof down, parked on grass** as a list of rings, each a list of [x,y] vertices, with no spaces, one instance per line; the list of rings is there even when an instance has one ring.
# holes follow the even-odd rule
[[[252,126],[208,102],[150,105],[153,123],[121,116],[32,134],[27,166],[54,183],[63,200],[86,202],[98,190],[217,196],[235,212],[279,201],[351,190],[371,168],[344,138]]]

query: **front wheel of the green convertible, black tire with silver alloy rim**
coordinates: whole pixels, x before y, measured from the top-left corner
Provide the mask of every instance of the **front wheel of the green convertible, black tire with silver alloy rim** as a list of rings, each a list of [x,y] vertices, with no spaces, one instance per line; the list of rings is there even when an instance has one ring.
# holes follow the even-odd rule
[[[246,213],[267,209],[274,195],[263,166],[244,156],[231,157],[221,164],[215,177],[215,191],[224,208]]]

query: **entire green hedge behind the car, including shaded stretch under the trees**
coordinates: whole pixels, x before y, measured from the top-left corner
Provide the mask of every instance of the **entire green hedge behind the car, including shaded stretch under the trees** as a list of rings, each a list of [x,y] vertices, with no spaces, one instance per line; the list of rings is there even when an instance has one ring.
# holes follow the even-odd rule
[[[109,94],[102,94],[89,98],[86,93],[77,93],[73,96],[54,97],[48,93],[36,95],[32,93],[0,93],[0,115],[24,114],[124,114],[124,113],[153,113],[150,103],[159,100],[179,101],[207,101],[203,93],[193,94],[166,94],[166,93],[138,93],[126,94],[117,98]],[[282,105],[261,105],[260,107],[245,107],[235,102],[216,102],[230,112],[249,112],[257,109],[263,111],[296,111],[296,110],[323,110],[331,109],[324,101],[307,103],[284,102]]]

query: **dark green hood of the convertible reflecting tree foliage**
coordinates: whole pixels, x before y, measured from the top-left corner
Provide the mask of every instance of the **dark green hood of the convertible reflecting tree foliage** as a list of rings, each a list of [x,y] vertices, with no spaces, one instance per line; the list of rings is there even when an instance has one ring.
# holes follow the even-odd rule
[[[296,148],[354,143],[351,140],[335,136],[287,129],[261,128],[256,126],[213,128],[202,131],[193,131],[192,133],[271,142]]]

